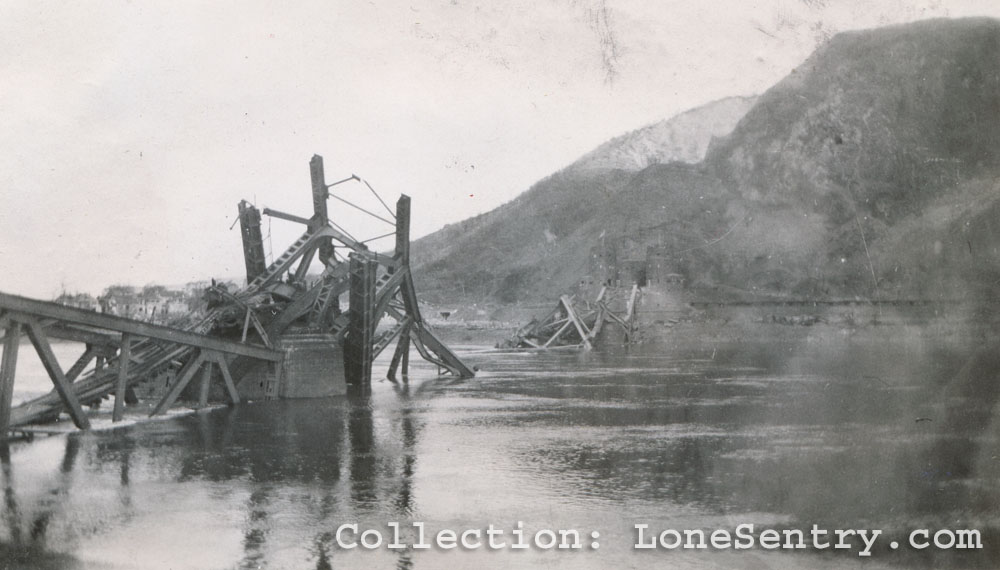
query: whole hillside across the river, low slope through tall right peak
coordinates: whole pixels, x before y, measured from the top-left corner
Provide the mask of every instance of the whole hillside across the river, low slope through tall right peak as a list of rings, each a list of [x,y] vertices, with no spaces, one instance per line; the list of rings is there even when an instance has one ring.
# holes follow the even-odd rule
[[[511,203],[416,242],[421,288],[551,299],[590,271],[595,246],[624,235],[665,248],[702,297],[996,292],[1000,22],[840,34],[728,136],[690,126],[696,116],[671,132],[713,141],[700,163],[636,171],[638,156],[678,157],[675,141],[649,134],[663,132],[655,126],[609,141]]]

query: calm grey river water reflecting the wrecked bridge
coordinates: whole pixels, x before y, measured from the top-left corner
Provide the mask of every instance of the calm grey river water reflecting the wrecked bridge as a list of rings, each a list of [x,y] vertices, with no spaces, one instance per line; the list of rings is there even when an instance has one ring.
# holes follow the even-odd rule
[[[408,388],[376,383],[369,399],[248,403],[12,444],[0,566],[1000,567],[1000,353],[987,345],[814,329],[458,350],[476,378],[437,378],[415,359]],[[418,522],[426,540],[480,529],[483,546],[389,549],[390,521],[404,542]],[[529,548],[487,547],[483,529],[509,545],[518,521]],[[345,549],[345,523],[386,542]],[[755,544],[637,550],[637,524],[644,540],[753,524]],[[856,536],[814,548],[814,525],[883,534],[861,557]],[[580,548],[535,545],[545,529],[577,531]],[[765,529],[803,529],[806,548],[763,549]],[[930,547],[909,545],[915,529]],[[941,529],[976,529],[983,548],[936,548]]]

